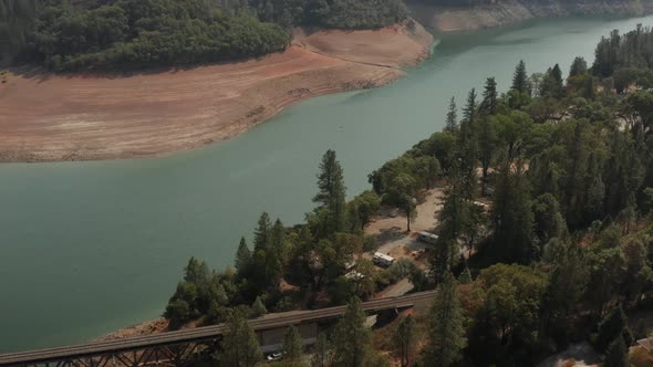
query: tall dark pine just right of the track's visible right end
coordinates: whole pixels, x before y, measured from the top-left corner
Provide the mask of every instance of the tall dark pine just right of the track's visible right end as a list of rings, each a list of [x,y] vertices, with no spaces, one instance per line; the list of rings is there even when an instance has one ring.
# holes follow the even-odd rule
[[[439,285],[429,312],[429,335],[426,350],[429,364],[449,367],[462,358],[467,345],[464,316],[457,296],[457,282],[448,274]]]

